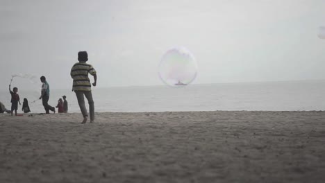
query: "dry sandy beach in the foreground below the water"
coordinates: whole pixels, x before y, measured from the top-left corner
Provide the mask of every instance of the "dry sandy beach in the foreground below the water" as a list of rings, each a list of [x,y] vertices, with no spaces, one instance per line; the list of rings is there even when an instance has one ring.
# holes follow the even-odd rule
[[[0,114],[0,182],[325,182],[325,112]]]

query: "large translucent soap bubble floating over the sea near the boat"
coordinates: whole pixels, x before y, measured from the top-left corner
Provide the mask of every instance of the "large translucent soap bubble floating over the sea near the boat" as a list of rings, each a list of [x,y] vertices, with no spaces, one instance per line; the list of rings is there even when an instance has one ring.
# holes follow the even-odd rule
[[[197,62],[185,47],[174,47],[163,55],[158,74],[166,85],[186,86],[197,77]]]

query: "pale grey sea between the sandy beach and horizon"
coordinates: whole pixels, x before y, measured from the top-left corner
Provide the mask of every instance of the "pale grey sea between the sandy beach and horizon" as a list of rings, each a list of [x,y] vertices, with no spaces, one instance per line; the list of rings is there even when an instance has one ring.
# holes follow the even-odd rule
[[[176,88],[94,87],[92,94],[96,112],[325,110],[325,80],[189,85]],[[58,98],[63,95],[67,96],[69,112],[80,112],[71,89],[51,89],[49,104],[57,105]],[[21,102],[23,98],[28,98],[32,112],[44,112],[42,101],[31,103],[40,96],[37,90],[19,90],[19,96]],[[0,92],[0,101],[10,108],[9,92]]]

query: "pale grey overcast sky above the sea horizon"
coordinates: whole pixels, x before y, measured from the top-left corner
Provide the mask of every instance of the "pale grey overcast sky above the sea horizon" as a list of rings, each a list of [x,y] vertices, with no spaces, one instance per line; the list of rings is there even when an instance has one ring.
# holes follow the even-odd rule
[[[323,0],[0,3],[1,89],[15,73],[71,88],[78,51],[88,51],[98,87],[163,85],[157,67],[173,46],[196,58],[193,84],[325,79]]]

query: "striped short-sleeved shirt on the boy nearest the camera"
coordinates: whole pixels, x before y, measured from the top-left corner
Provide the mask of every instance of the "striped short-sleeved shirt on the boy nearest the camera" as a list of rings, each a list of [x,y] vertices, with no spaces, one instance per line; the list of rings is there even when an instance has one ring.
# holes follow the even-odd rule
[[[91,64],[86,62],[77,62],[71,69],[70,75],[74,79],[72,90],[74,91],[92,91],[88,73],[92,76],[96,74],[96,70]]]

